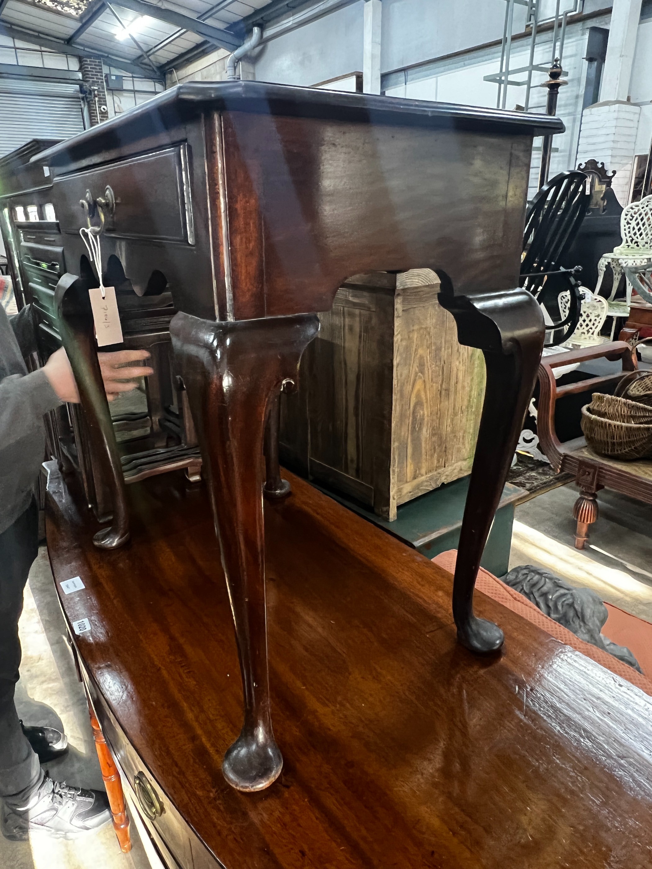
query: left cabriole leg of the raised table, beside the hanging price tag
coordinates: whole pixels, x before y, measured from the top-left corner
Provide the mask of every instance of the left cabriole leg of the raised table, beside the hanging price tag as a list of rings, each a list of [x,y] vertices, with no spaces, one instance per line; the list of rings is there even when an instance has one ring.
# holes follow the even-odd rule
[[[76,275],[63,275],[55,290],[55,308],[59,334],[75,374],[90,440],[94,452],[100,456],[103,473],[110,482],[113,495],[113,524],[98,531],[93,543],[101,549],[116,549],[129,540],[127,494],[109,402],[97,361],[87,282]]]

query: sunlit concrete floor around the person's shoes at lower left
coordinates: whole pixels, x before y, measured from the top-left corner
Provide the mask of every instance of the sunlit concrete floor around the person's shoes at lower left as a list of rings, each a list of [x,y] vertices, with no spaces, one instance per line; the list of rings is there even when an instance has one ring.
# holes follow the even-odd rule
[[[18,715],[26,724],[54,726],[68,734],[68,755],[47,765],[53,779],[103,790],[88,706],[70,648],[63,639],[63,615],[44,547],[30,571],[19,630],[23,662],[16,692]],[[50,839],[43,833],[31,833],[29,842],[10,842],[0,835],[0,867],[150,869],[133,823],[131,839],[131,852],[123,854],[111,825],[70,842]]]

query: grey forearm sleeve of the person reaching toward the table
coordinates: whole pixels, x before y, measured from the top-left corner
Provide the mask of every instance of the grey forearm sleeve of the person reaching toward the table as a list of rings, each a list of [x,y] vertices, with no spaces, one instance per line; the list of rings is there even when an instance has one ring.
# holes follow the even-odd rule
[[[0,443],[3,448],[21,441],[42,425],[43,414],[62,402],[43,368],[29,375],[10,375],[0,381]]]

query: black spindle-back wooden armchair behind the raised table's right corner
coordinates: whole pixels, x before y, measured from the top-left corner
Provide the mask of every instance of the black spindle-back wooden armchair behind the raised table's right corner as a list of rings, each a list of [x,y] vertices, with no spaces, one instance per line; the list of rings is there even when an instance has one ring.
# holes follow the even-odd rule
[[[525,221],[520,285],[552,314],[558,309],[563,290],[570,295],[569,313],[553,321],[552,344],[568,341],[582,311],[580,282],[582,269],[559,265],[575,241],[591,201],[589,176],[577,169],[560,172],[532,200]]]

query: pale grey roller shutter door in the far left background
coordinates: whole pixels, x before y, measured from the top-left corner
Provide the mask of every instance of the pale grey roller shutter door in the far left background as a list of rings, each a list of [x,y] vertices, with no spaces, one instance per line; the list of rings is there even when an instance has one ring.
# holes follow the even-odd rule
[[[0,156],[30,139],[68,139],[82,130],[77,84],[0,79]]]

